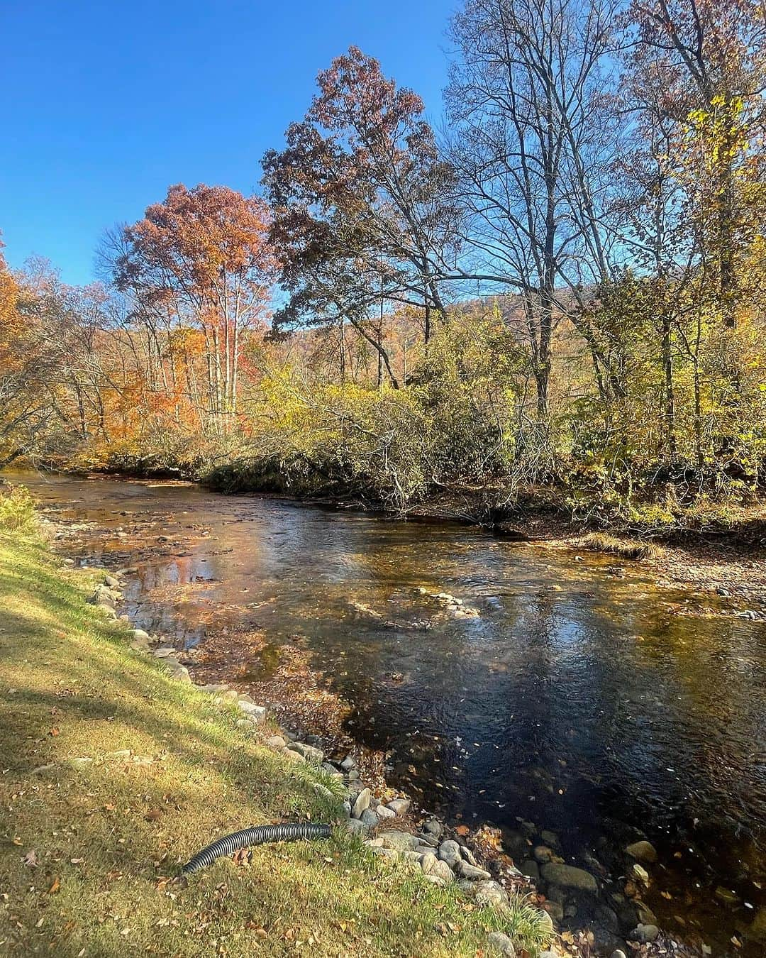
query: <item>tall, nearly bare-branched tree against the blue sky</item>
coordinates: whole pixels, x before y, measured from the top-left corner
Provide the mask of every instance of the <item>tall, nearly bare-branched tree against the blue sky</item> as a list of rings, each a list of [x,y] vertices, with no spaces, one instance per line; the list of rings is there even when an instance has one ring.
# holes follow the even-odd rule
[[[462,275],[520,293],[541,422],[557,317],[580,318],[604,362],[581,294],[610,276],[617,138],[604,94],[615,12],[611,0],[468,0],[452,23],[450,159],[470,214]]]

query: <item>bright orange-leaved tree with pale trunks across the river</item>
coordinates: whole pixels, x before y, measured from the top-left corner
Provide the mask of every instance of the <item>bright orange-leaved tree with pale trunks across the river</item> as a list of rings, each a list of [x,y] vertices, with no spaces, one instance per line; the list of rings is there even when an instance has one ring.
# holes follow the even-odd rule
[[[223,426],[237,412],[242,336],[266,315],[276,262],[266,204],[228,187],[170,187],[124,228],[118,289],[149,329],[162,319],[201,331],[205,412]]]

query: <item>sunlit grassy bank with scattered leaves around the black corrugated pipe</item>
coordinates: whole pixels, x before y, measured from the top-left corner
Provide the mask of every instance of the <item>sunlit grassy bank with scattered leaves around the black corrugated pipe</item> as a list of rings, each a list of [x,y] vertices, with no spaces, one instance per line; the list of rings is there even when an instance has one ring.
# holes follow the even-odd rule
[[[475,955],[491,930],[534,953],[536,910],[475,908],[341,831],[167,881],[216,836],[336,800],[130,650],[90,575],[0,532],[0,954]]]

